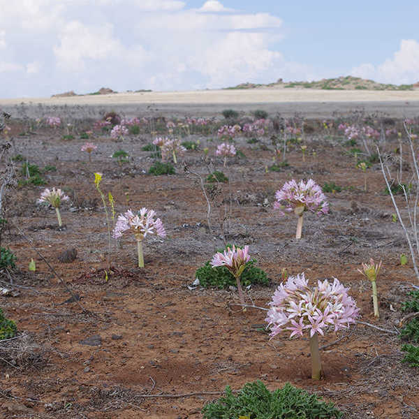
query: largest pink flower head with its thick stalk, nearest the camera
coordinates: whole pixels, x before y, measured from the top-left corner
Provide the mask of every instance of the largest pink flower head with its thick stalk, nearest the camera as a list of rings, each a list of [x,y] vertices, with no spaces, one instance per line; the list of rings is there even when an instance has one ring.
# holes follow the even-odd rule
[[[338,279],[332,284],[325,279],[310,288],[304,273],[288,277],[281,282],[272,296],[270,310],[265,321],[270,325],[271,338],[285,330],[290,337],[310,337],[311,378],[319,380],[322,375],[318,335],[333,328],[335,331],[348,328],[358,317],[355,301],[348,295]]]

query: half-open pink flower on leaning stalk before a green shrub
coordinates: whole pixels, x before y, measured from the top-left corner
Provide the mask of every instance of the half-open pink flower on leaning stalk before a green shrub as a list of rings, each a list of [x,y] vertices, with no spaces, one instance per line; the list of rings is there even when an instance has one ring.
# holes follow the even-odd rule
[[[233,249],[230,247],[223,253],[217,252],[212,257],[211,265],[212,267],[216,266],[225,266],[235,277],[237,283],[237,290],[239,291],[240,303],[244,306],[244,295],[242,290],[242,284],[240,282],[240,277],[246,267],[246,264],[249,262],[249,246],[244,246],[243,249],[236,248],[233,244]]]

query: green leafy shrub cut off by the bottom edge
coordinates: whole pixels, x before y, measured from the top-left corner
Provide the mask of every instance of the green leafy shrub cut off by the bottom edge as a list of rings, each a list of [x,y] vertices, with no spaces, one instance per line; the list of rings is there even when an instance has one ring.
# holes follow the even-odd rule
[[[259,380],[246,383],[237,394],[227,386],[223,397],[203,408],[204,419],[332,419],[342,415],[334,404],[290,383],[271,392]]]

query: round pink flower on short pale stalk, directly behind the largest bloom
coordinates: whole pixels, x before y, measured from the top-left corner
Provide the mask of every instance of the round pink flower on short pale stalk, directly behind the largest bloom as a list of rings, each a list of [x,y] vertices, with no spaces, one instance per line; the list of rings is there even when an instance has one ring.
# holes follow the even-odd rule
[[[274,208],[279,210],[279,214],[285,215],[286,212],[294,212],[298,216],[297,232],[295,238],[300,239],[302,233],[302,221],[304,212],[310,211],[314,214],[328,214],[329,205],[322,189],[313,179],[303,180],[297,184],[295,180],[286,182],[280,191],[275,194],[277,202]]]

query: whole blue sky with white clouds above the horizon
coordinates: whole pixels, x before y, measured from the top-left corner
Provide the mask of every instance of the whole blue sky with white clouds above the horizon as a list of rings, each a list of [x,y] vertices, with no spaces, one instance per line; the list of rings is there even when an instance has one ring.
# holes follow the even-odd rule
[[[0,0],[0,97],[418,82],[418,19],[418,0]]]

